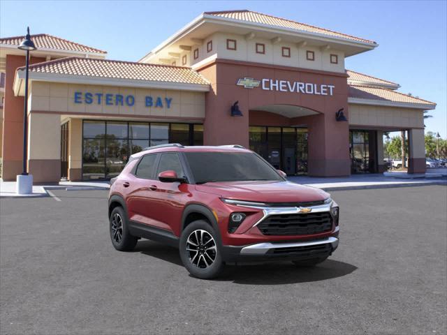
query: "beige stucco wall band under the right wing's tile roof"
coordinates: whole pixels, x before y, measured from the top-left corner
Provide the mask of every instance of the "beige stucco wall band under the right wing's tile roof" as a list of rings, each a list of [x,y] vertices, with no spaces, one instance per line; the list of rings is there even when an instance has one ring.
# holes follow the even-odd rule
[[[423,128],[422,110],[411,108],[349,104],[349,124],[355,126],[383,126]]]

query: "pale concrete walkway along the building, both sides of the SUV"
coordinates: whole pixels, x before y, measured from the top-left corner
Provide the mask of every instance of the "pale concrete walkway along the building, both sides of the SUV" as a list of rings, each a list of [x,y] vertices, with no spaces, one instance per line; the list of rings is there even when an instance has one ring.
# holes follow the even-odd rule
[[[325,191],[356,190],[365,188],[395,188],[409,186],[447,185],[447,178],[401,179],[385,177],[383,174],[353,174],[350,177],[288,177],[297,184],[321,188]],[[109,189],[108,181],[61,181],[59,184],[33,186],[33,194],[17,195],[15,181],[1,181],[0,198],[35,198],[52,196],[51,190],[67,191]]]

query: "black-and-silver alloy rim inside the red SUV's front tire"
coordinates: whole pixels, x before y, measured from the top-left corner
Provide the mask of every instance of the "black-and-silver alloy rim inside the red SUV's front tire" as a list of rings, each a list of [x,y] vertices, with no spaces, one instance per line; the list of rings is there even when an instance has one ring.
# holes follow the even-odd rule
[[[216,241],[206,230],[194,230],[186,240],[186,253],[193,265],[206,269],[216,260]]]

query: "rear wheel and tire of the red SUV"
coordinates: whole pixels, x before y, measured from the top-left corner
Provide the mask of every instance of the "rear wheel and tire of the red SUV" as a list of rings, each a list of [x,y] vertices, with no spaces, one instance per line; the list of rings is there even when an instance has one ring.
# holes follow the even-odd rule
[[[122,207],[115,207],[110,214],[110,239],[115,249],[132,251],[138,239],[129,232],[127,216]]]

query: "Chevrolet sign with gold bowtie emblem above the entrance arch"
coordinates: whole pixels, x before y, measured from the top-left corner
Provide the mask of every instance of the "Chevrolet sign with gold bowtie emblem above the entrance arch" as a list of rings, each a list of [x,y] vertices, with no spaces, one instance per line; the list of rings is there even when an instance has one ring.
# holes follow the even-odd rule
[[[254,78],[244,77],[237,80],[237,86],[243,86],[246,89],[254,89],[260,85],[265,91],[315,94],[317,96],[332,96],[335,89],[335,85],[314,84],[312,82],[291,82],[289,80],[274,80],[270,78],[256,80]]]

